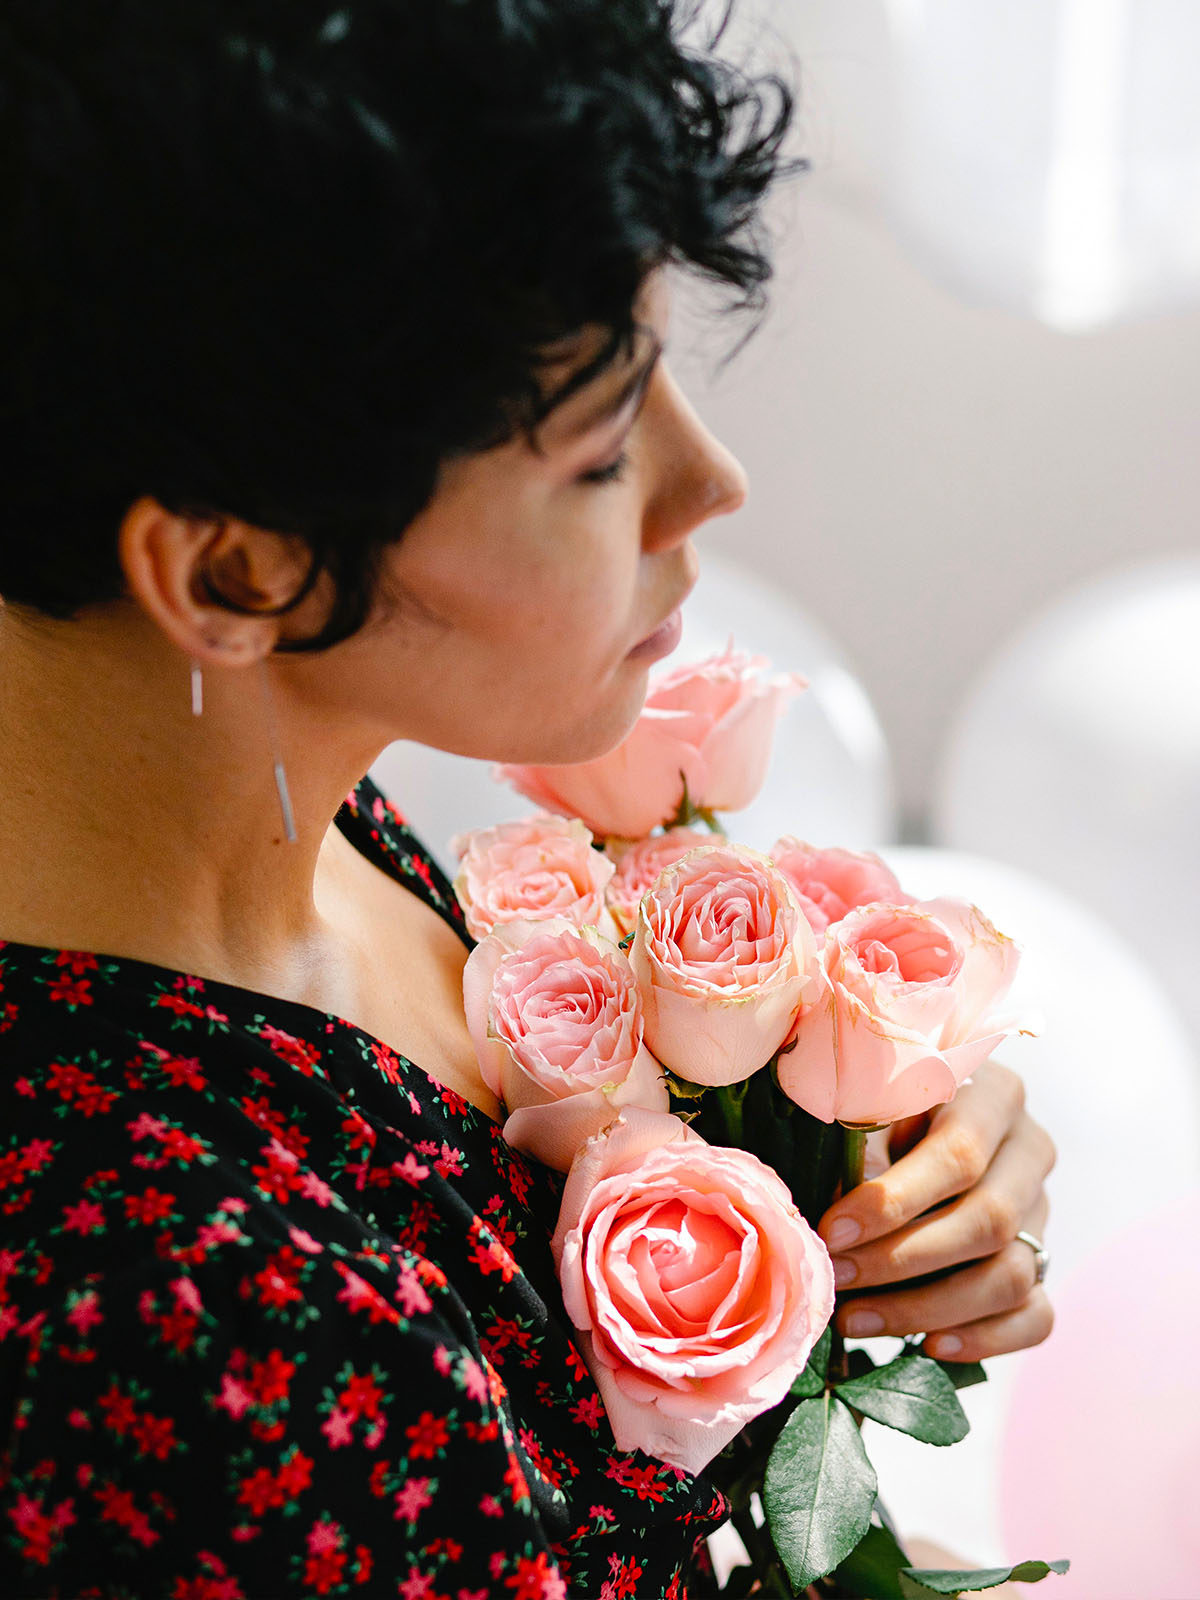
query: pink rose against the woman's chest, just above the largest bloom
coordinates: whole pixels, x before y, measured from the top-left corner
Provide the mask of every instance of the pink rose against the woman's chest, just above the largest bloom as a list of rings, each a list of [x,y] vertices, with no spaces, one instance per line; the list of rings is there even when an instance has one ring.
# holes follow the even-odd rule
[[[662,1069],[642,1043],[642,1002],[622,952],[563,918],[498,926],[467,957],[467,1027],[504,1138],[565,1173],[622,1106],[664,1110]]]

